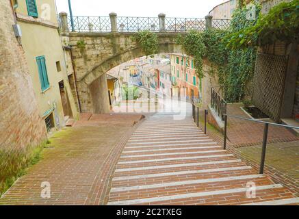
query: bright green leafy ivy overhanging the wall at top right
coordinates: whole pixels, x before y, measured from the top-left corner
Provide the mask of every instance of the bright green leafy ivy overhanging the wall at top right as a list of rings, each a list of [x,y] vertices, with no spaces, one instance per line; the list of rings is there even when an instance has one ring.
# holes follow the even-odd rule
[[[280,3],[266,15],[259,16],[255,25],[239,29],[227,37],[231,48],[248,48],[273,44],[276,40],[298,42],[299,0]]]

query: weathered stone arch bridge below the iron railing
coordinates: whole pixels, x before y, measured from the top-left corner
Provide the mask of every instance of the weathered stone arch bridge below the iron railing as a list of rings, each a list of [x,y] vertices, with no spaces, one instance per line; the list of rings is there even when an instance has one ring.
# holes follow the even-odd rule
[[[110,69],[144,56],[142,48],[124,33],[70,33],[73,62],[82,112],[109,113],[109,96],[105,73]],[[158,53],[183,53],[177,44],[178,34],[158,33]],[[80,48],[77,42],[84,42]]]

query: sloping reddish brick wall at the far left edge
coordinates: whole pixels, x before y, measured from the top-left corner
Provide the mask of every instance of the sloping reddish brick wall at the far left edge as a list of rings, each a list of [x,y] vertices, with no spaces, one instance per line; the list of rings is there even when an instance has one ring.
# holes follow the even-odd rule
[[[47,138],[23,48],[12,25],[10,0],[0,1],[0,151],[36,146]]]

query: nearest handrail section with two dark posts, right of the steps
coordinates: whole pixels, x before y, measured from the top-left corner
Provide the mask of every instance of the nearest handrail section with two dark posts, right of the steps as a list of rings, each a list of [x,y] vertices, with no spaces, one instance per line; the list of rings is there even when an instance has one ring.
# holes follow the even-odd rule
[[[260,162],[260,166],[259,166],[259,173],[263,174],[263,169],[265,167],[265,152],[267,149],[267,140],[268,140],[268,129],[269,129],[269,125],[274,125],[274,126],[278,126],[278,127],[285,127],[285,128],[289,128],[289,129],[299,129],[299,127],[294,127],[291,125],[283,125],[283,124],[278,124],[278,123],[270,123],[270,122],[265,122],[265,121],[261,121],[261,120],[255,120],[252,118],[244,118],[241,116],[232,116],[232,115],[228,115],[228,114],[224,114],[224,143],[223,143],[223,147],[224,150],[226,149],[226,137],[227,137],[227,118],[237,118],[237,119],[241,119],[241,120],[247,120],[253,123],[261,123],[264,124],[264,130],[263,130],[263,145],[262,145],[262,151],[261,151],[261,162]]]

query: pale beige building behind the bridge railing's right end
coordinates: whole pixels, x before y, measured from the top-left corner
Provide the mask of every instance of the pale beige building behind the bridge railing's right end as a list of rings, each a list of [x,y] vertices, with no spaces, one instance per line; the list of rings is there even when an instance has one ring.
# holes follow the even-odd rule
[[[229,0],[216,5],[209,15],[213,16],[213,19],[231,19],[233,12],[237,8],[237,0]]]

